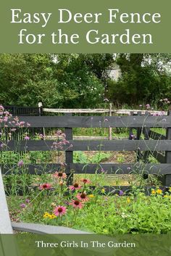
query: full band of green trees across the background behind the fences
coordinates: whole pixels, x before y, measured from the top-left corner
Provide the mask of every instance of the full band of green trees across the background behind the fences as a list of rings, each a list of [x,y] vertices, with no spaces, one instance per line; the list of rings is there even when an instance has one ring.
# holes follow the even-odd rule
[[[171,98],[170,54],[0,54],[0,103],[99,107]],[[113,80],[109,70],[120,69]]]

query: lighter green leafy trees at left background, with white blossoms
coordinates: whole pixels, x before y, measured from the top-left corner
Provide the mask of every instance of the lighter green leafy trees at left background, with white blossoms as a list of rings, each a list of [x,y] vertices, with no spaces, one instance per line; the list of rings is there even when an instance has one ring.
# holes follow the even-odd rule
[[[86,108],[104,86],[77,54],[0,54],[0,90],[4,105]]]

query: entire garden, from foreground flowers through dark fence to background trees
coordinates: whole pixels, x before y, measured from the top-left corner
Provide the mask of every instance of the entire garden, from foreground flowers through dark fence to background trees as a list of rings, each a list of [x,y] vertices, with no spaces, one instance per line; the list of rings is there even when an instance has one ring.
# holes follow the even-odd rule
[[[171,182],[166,178],[170,173],[170,116],[164,114],[170,109],[170,74],[164,71],[166,64],[163,70],[157,67],[161,58],[163,62],[170,58],[154,54],[146,64],[142,54],[130,54],[130,59],[120,54],[119,80],[107,75],[114,65],[110,54],[55,58],[50,62],[48,54],[1,54],[0,86],[7,85],[7,89],[0,96],[0,163],[11,220],[111,236],[170,233]],[[144,79],[148,83],[140,93],[136,86],[142,86]],[[151,88],[151,79],[155,88]],[[154,95],[159,83],[161,90]],[[115,105],[113,96],[117,97]],[[144,103],[147,100],[151,104]],[[104,110],[112,102],[114,110],[122,106],[146,115],[43,112],[37,117],[17,116],[6,107],[31,107],[38,101],[49,109],[86,106]],[[104,139],[109,129],[111,141]]]

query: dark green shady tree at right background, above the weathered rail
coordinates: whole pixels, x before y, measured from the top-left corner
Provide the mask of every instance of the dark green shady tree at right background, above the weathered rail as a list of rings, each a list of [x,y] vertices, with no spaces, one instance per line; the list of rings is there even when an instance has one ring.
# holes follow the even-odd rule
[[[168,97],[170,99],[170,73],[166,67],[169,66],[170,57],[151,54],[120,54],[117,65],[121,70],[120,78],[108,81],[109,99],[119,104],[142,104],[159,102],[159,99]]]

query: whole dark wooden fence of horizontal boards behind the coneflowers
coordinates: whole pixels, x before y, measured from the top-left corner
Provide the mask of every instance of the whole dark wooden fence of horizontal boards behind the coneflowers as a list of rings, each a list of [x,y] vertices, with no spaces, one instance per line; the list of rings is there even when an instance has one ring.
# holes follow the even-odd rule
[[[130,116],[20,116],[20,120],[29,123],[31,128],[64,128],[66,139],[70,145],[64,147],[66,155],[66,170],[70,173],[101,173],[104,170],[107,174],[132,174],[140,173],[142,176],[154,174],[162,176],[162,185],[170,186],[171,183],[171,115],[130,115]],[[9,127],[14,124],[9,123]],[[128,139],[114,140],[74,140],[73,128],[129,128]],[[166,129],[166,136],[156,133],[151,128]],[[133,136],[133,129],[136,130]],[[27,141],[6,141],[7,146],[1,147],[1,151],[51,151],[53,150],[52,140],[27,140]],[[60,149],[59,149],[60,150]],[[101,164],[80,164],[73,162],[75,151],[113,151],[113,152],[137,152],[137,162],[128,164],[101,163]],[[159,163],[149,163],[148,156],[152,154]],[[58,163],[27,165],[28,174],[54,173],[60,167]],[[7,165],[2,166],[2,173],[10,174]],[[106,191],[122,191],[130,189],[128,186],[106,186]]]

